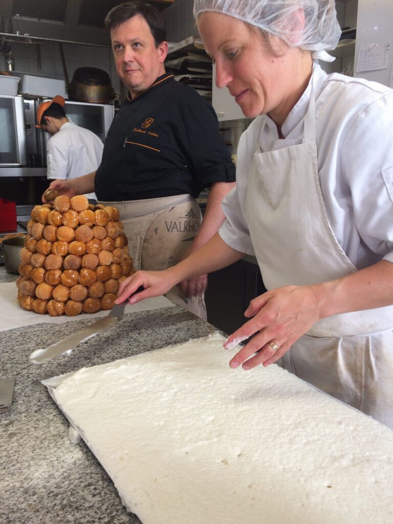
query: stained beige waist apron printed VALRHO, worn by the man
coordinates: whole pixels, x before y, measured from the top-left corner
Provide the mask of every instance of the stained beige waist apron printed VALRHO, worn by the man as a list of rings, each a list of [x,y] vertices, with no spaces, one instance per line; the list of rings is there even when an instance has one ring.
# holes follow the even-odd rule
[[[188,194],[100,203],[119,210],[119,220],[124,225],[136,270],[157,271],[177,264],[190,247],[202,221],[198,202]],[[204,293],[186,298],[175,286],[166,297],[206,320]]]

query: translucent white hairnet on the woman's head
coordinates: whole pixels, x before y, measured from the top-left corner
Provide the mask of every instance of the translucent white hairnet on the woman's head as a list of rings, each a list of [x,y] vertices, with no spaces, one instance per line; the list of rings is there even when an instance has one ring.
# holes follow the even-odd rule
[[[304,12],[301,29],[299,9]],[[204,11],[232,16],[301,49],[334,49],[341,35],[334,0],[194,0],[195,19]]]

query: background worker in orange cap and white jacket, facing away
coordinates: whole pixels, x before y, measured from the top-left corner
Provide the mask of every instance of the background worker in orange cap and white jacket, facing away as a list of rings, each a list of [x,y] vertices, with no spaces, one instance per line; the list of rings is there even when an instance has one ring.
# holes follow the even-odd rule
[[[101,163],[104,144],[90,129],[77,126],[67,118],[65,100],[57,95],[38,106],[39,127],[50,133],[47,145],[47,178],[69,180],[95,171]],[[95,199],[95,193],[87,193]]]

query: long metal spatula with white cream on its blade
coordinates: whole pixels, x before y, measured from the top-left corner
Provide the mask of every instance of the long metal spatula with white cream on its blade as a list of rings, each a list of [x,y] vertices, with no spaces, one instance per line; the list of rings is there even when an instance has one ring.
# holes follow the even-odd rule
[[[133,294],[143,291],[144,288],[139,287]],[[129,298],[129,297],[128,297]],[[93,324],[82,328],[81,330],[65,337],[63,340],[59,340],[55,344],[48,346],[45,350],[33,351],[29,356],[29,361],[33,364],[44,364],[50,361],[52,358],[61,355],[62,353],[72,350],[82,342],[91,339],[93,336],[101,333],[106,328],[109,328],[113,324],[117,324],[123,318],[124,308],[126,307],[128,299],[121,303],[115,304],[109,314],[104,318],[97,320]]]

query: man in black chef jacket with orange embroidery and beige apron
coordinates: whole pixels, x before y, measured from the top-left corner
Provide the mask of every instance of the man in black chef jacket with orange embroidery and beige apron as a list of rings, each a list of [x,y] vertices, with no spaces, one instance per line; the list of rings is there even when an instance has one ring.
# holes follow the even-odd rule
[[[54,181],[50,188],[69,196],[95,190],[98,201],[119,209],[136,269],[166,269],[219,230],[235,166],[212,106],[165,71],[168,45],[158,10],[126,2],[108,13],[105,25],[127,99],[110,127],[97,171],[67,183]],[[208,187],[202,222],[195,198]],[[167,297],[205,319],[206,285],[207,276],[198,277]]]

